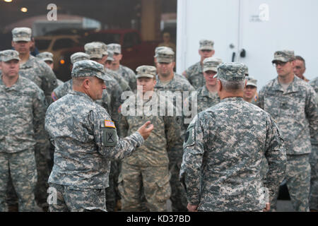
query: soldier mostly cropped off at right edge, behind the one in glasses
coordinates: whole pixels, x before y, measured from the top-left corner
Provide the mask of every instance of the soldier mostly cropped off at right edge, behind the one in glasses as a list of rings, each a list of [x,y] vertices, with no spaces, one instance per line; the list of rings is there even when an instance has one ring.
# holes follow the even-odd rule
[[[310,81],[310,85],[316,91],[316,102],[318,104],[318,77]],[[310,173],[310,210],[318,211],[318,166],[317,166],[317,156],[318,156],[318,143],[312,139],[312,153],[310,155],[310,166],[312,171]]]

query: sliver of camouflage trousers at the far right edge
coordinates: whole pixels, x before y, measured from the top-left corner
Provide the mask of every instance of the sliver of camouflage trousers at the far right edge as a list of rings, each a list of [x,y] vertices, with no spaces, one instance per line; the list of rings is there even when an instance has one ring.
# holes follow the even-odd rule
[[[310,167],[312,168],[310,174],[310,210],[318,210],[317,153],[318,144],[312,145],[312,153],[310,154]]]

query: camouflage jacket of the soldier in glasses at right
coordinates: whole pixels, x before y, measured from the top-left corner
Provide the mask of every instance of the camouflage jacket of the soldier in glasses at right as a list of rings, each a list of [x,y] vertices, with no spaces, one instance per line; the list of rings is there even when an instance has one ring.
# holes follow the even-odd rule
[[[318,140],[317,94],[305,81],[294,76],[286,92],[271,80],[259,92],[257,105],[271,114],[281,130],[288,155],[302,155],[311,152],[310,138]]]

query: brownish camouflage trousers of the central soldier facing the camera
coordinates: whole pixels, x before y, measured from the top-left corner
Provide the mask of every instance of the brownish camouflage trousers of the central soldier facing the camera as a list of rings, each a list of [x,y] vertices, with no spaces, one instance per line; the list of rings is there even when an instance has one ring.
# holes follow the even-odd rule
[[[151,212],[167,211],[167,200],[171,194],[169,179],[167,166],[141,167],[122,162],[118,185],[122,211],[145,211],[142,191]]]

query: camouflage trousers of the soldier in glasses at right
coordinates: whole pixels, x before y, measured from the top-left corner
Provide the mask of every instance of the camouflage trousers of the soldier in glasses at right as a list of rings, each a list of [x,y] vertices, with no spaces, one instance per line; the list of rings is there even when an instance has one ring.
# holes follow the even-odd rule
[[[287,155],[286,184],[293,208],[298,212],[309,211],[310,154]],[[271,201],[271,210],[276,210],[278,191]]]

